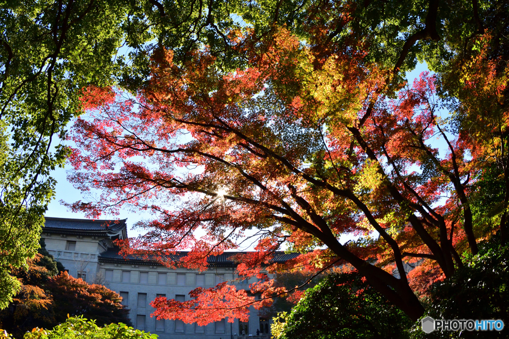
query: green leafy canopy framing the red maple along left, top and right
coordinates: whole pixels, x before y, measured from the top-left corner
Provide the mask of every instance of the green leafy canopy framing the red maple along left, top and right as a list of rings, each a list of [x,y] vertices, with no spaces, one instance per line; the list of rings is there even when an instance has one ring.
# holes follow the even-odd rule
[[[463,103],[470,103],[462,107],[464,111],[475,112],[469,109],[482,106],[490,113],[499,112],[497,105],[497,110],[491,110],[490,95],[498,91],[499,103],[505,96],[500,76],[507,37],[503,1],[17,1],[6,3],[0,17],[0,148],[4,155],[0,159],[0,308],[20,288],[10,267],[23,266],[36,253],[42,216],[54,194],[51,171],[69,156],[65,147],[53,148],[52,143],[65,138],[68,122],[81,113],[78,97],[82,89],[89,84],[116,84],[136,93],[149,81],[149,57],[159,48],[171,49],[174,62],[182,65],[186,60],[189,63],[192,50],[207,45],[215,67],[227,72],[248,64],[242,49],[230,40],[232,28],[241,29],[239,22],[252,26],[259,37],[286,25],[300,41],[307,41],[316,55],[314,67],[332,54],[353,55],[353,63],[363,57],[361,62],[396,70],[389,77],[390,89],[401,83],[401,71],[412,69],[419,57],[438,72],[444,85],[440,90],[453,96],[459,93]],[[455,70],[478,69],[468,68],[465,61],[475,59],[471,47],[482,35],[490,37],[489,47],[476,65],[486,61],[491,66],[474,77],[494,82],[479,87],[480,83],[475,86],[475,81],[467,83],[464,77],[456,77]],[[130,48],[125,57],[117,55],[120,46]],[[482,76],[486,74],[493,76]],[[477,105],[478,96],[471,97],[475,91],[468,86],[484,88],[487,105]],[[500,121],[497,117],[504,116],[497,114],[486,116],[493,127]],[[475,116],[469,115],[470,121]],[[469,125],[463,127],[471,131]],[[506,234],[508,167],[505,150],[496,152],[504,149],[498,146],[505,144],[506,133],[504,124],[499,127],[501,133],[490,133],[486,139],[487,130],[479,131],[474,139],[477,143],[495,141],[485,143],[483,153],[496,157],[497,166],[503,168],[504,174],[496,179],[497,184],[503,183],[504,197],[492,206],[495,217],[489,217],[492,211],[482,204],[474,210],[474,217],[479,212],[486,221],[483,225],[488,225],[484,228],[492,229],[498,223]],[[504,217],[495,220],[499,210]],[[475,246],[471,234],[467,235],[470,246]],[[436,267],[430,267],[429,274],[436,276]]]

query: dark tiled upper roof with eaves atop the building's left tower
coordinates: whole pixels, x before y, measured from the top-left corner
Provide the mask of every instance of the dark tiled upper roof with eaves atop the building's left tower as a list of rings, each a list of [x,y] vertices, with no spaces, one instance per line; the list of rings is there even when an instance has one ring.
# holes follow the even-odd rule
[[[127,219],[91,220],[45,217],[44,233],[127,238]]]

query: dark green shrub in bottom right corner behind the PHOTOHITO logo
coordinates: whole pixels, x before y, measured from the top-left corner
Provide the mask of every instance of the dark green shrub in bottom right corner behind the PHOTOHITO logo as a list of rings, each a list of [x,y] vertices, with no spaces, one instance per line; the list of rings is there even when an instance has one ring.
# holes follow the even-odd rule
[[[479,244],[479,253],[468,256],[468,265],[452,278],[435,283],[430,291],[427,314],[434,319],[501,319],[509,324],[509,247],[496,241]],[[432,332],[425,334],[420,323],[412,329],[413,338],[506,338],[501,332]]]

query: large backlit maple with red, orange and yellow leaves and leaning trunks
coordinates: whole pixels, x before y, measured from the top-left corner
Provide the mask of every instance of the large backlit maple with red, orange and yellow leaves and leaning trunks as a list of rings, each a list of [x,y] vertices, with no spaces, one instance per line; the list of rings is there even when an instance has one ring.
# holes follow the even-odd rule
[[[273,286],[262,270],[321,272],[348,263],[416,320],[424,309],[414,291],[453,276],[463,266],[462,252],[478,252],[478,238],[503,233],[504,223],[497,229],[480,225],[470,204],[486,169],[496,165],[486,153],[491,144],[460,124],[465,111],[477,113],[462,96],[455,115],[440,111],[448,104],[440,99],[444,91],[486,79],[482,65],[491,65],[489,60],[474,61],[488,56],[472,49],[466,60],[453,60],[471,60],[465,69],[451,61],[450,69],[473,77],[456,87],[447,87],[450,69],[405,84],[400,71],[411,67],[413,44],[438,39],[437,3],[423,8],[422,29],[399,41],[400,53],[378,59],[380,52],[370,48],[376,35],[330,39],[336,30],[359,24],[355,6],[344,5],[334,8],[343,11],[340,22],[331,20],[332,8],[311,11],[305,41],[284,27],[262,36],[249,28],[232,30],[230,44],[247,65],[233,72],[216,65],[208,49],[189,51],[187,60],[175,63],[173,51],[160,48],[136,98],[111,88],[83,91],[89,115],[74,127],[78,148],[70,158],[70,179],[101,195],[71,207],[92,217],[128,205],[154,212],[154,221],[138,225],[149,233],[119,243],[125,254],[205,269],[208,255],[237,249],[246,236],[258,240],[257,252],[235,258],[239,274],[261,279],[250,286],[251,294],[227,283],[199,288],[186,302],[156,299],[156,316],[200,325],[245,320],[250,304],[263,307],[292,292]],[[365,30],[350,37],[357,34]],[[486,34],[476,33],[469,46]],[[433,49],[427,46],[421,55]],[[489,74],[482,89],[490,94],[494,87],[497,98],[505,98],[505,69]],[[505,106],[500,110],[506,112]],[[207,235],[199,238],[201,228]],[[345,234],[356,240],[342,243]],[[283,244],[302,255],[273,264]],[[168,260],[187,248],[184,258]],[[405,272],[404,261],[422,260]],[[260,300],[252,295],[257,293]]]

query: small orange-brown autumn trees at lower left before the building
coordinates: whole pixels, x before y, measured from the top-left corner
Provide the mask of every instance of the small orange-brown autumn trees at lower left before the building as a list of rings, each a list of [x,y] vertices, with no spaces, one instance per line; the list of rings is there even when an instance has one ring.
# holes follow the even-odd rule
[[[52,328],[64,323],[68,315],[85,315],[100,325],[130,324],[129,311],[122,305],[120,295],[70,276],[47,253],[43,241],[38,252],[26,269],[12,269],[21,289],[0,311],[0,328],[22,338],[34,327]]]

